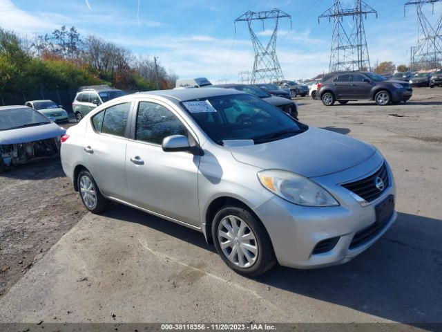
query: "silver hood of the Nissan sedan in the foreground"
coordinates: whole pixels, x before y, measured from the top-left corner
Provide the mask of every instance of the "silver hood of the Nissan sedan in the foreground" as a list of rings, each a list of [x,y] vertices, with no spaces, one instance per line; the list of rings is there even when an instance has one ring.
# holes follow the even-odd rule
[[[354,167],[376,151],[360,140],[313,127],[290,138],[230,149],[240,163],[262,169],[285,169],[308,178]]]

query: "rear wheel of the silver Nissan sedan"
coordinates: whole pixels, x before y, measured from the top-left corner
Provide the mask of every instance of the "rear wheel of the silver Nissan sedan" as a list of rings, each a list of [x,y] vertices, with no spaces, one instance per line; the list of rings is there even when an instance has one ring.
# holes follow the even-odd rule
[[[77,176],[77,186],[81,203],[92,213],[100,213],[106,210],[111,203],[104,198],[99,191],[93,176],[86,170],[79,172]]]

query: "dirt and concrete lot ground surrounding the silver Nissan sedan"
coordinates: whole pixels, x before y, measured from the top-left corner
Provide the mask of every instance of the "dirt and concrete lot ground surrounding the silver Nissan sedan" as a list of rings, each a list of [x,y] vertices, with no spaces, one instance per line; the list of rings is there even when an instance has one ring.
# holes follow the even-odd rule
[[[0,174],[0,322],[440,322],[442,89],[388,107],[297,102],[303,122],[372,143],[394,170],[398,221],[363,255],[243,278],[198,232],[121,205],[86,214],[44,160]]]

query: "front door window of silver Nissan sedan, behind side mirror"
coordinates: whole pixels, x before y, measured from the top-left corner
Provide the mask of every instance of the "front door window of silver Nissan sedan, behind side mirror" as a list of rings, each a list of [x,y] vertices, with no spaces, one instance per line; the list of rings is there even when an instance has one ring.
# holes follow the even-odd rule
[[[171,135],[187,136],[184,124],[169,109],[153,102],[140,102],[138,106],[135,140],[162,145]]]

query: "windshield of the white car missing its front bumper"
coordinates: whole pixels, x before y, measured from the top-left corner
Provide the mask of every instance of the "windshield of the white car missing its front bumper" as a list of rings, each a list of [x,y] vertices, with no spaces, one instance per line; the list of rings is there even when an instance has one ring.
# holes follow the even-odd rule
[[[0,111],[0,130],[33,127],[48,123],[50,123],[48,118],[28,107]]]

